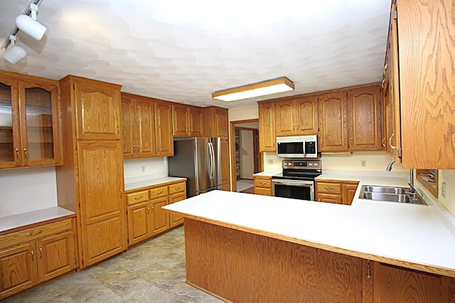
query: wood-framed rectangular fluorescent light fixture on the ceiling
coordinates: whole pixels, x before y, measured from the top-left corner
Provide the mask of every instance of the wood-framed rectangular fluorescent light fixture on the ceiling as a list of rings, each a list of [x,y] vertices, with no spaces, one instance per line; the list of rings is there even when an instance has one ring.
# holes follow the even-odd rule
[[[229,102],[264,95],[272,95],[276,94],[277,92],[287,92],[294,89],[294,83],[288,78],[282,77],[265,80],[259,83],[232,87],[228,88],[227,90],[218,90],[217,92],[212,92],[212,97],[214,99]]]

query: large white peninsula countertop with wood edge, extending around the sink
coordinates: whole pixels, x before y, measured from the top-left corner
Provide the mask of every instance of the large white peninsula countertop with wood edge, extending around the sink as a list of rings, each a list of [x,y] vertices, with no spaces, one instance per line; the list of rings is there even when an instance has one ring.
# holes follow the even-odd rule
[[[346,180],[346,176],[340,178]],[[407,186],[409,179],[386,175],[357,176],[355,180],[360,186]],[[351,206],[210,191],[164,208],[190,218],[303,240],[315,247],[323,245],[328,250],[414,269],[423,266],[428,272],[455,277],[455,238],[432,206],[360,199],[360,186]]]

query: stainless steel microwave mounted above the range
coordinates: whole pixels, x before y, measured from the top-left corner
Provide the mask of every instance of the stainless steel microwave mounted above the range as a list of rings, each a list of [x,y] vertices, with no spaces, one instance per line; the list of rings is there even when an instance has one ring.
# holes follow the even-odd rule
[[[317,158],[318,136],[277,137],[277,156],[279,158]]]

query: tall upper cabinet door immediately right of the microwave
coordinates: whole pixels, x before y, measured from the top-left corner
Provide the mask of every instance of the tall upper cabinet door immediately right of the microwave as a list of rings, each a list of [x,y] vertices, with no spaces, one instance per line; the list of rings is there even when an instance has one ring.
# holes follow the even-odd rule
[[[328,92],[318,97],[321,151],[348,151],[347,93]]]

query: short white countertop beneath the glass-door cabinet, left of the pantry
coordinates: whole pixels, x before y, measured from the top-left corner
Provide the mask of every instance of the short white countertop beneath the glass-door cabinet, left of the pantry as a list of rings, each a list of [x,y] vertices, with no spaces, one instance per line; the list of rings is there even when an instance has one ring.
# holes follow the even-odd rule
[[[1,217],[0,218],[0,233],[5,230],[14,228],[26,227],[40,222],[63,218],[65,216],[75,216],[73,211],[68,211],[65,208],[58,206],[40,209],[38,211],[29,211],[28,213],[20,213],[18,215]]]

